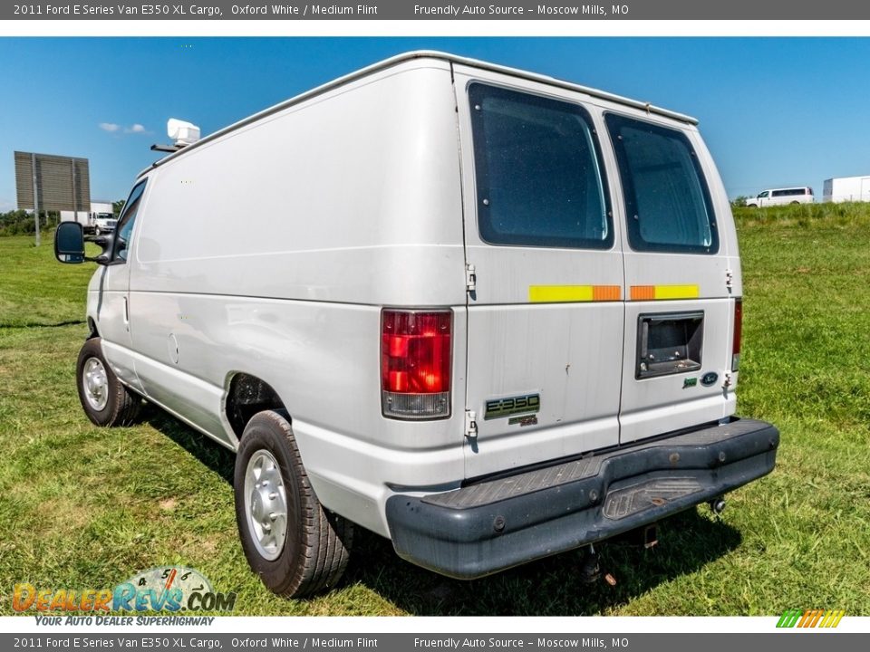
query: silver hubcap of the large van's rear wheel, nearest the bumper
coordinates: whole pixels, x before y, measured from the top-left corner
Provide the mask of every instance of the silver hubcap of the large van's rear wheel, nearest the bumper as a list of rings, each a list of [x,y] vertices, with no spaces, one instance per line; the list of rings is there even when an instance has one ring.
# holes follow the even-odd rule
[[[287,538],[287,494],[281,468],[267,450],[247,461],[245,513],[256,551],[266,560],[277,559]]]

